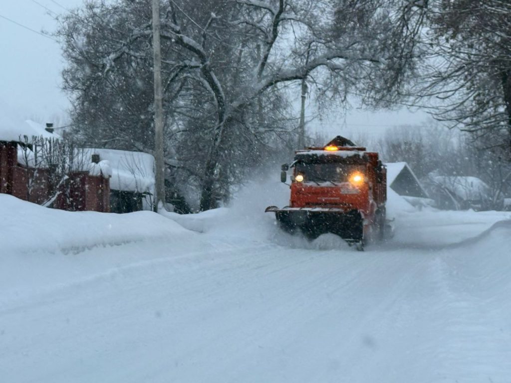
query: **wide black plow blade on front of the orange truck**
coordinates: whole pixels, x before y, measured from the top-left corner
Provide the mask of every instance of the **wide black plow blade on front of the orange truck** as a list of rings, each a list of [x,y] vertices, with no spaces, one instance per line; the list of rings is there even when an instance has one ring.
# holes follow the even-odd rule
[[[352,243],[362,242],[364,238],[364,220],[358,210],[268,206],[265,212],[275,212],[275,217],[284,231],[295,233],[300,230],[310,239],[326,233],[337,234]]]

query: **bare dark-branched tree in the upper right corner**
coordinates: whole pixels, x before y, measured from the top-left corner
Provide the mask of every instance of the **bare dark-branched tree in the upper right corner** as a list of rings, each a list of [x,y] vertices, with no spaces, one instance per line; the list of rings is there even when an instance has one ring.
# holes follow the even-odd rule
[[[420,97],[436,100],[434,117],[471,132],[511,159],[511,3],[429,1],[430,59]],[[507,152],[507,153],[505,153]]]

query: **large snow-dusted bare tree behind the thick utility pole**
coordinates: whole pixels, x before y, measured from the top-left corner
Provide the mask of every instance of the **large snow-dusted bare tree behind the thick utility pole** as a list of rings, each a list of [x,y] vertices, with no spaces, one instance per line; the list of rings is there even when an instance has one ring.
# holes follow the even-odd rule
[[[294,128],[286,86],[385,105],[413,74],[421,2],[169,0],[161,6],[167,162],[215,207]],[[97,146],[151,151],[148,0],[87,3],[61,19],[74,123]],[[382,97],[385,95],[385,97]],[[273,149],[274,151],[274,149]]]

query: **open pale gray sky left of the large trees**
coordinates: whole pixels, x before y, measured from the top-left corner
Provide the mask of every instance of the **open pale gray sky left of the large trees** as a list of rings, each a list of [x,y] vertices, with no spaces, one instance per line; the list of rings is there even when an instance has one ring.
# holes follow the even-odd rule
[[[60,72],[64,65],[60,45],[36,32],[54,32],[57,26],[44,7],[59,14],[65,12],[62,7],[74,8],[81,3],[82,0],[0,2],[0,52],[3,53],[0,105],[2,108],[8,105],[9,113],[22,118],[47,120],[64,114],[68,109],[69,103],[60,90]]]

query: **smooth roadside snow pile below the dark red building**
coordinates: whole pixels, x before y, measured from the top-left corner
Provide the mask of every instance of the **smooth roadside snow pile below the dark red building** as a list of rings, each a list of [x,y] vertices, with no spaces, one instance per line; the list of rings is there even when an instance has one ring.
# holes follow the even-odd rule
[[[2,255],[19,252],[74,252],[162,237],[193,235],[149,211],[108,214],[45,208],[0,194]]]

